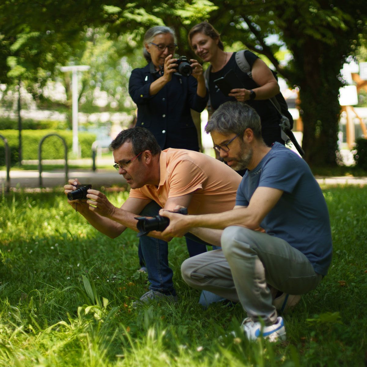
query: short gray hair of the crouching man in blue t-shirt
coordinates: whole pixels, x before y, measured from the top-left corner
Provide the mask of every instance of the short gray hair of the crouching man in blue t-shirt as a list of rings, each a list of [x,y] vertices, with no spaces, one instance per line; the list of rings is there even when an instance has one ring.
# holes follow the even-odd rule
[[[255,138],[262,140],[258,113],[246,103],[228,101],[211,115],[205,131],[208,134],[215,130],[224,135],[234,133],[243,136],[247,128],[254,132]]]

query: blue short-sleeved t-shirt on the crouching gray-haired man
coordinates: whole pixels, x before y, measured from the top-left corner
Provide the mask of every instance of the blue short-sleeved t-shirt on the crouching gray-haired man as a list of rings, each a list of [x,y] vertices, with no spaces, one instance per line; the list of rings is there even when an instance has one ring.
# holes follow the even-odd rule
[[[260,226],[268,235],[297,248],[317,273],[326,275],[333,249],[329,213],[308,164],[290,149],[274,143],[257,167],[244,175],[236,205],[248,206],[259,186],[284,191]]]

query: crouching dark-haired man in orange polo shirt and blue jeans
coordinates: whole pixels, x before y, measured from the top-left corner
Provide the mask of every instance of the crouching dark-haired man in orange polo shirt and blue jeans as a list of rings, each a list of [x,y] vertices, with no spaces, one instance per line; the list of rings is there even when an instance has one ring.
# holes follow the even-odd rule
[[[111,238],[126,228],[138,232],[137,214],[154,216],[162,207],[174,210],[183,206],[189,214],[210,214],[232,210],[235,205],[241,176],[212,157],[185,149],[161,151],[154,136],[141,127],[121,131],[110,149],[114,167],[131,187],[125,203],[117,208],[103,193],[92,189],[88,190],[86,202],[69,203],[92,226]],[[65,193],[75,190],[78,183],[77,179],[70,179],[69,185],[64,186]],[[195,231],[185,236],[199,240]],[[141,237],[141,245],[150,286],[141,302],[162,298],[177,301],[173,272],[168,266],[167,241],[171,237],[163,237],[156,231],[148,236]]]

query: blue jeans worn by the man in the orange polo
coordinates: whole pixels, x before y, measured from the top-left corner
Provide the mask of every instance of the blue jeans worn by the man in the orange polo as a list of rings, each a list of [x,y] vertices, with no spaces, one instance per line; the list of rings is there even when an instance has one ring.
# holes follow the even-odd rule
[[[140,215],[144,217],[154,217],[158,214],[160,209],[161,207],[159,204],[155,201],[151,201],[141,211]],[[185,235],[185,237],[186,236],[191,240],[192,247],[195,247],[194,241],[199,241],[197,245],[200,245],[203,251],[198,252],[198,249],[196,249],[196,254],[206,251],[206,242],[190,233]],[[142,236],[140,237],[139,248],[141,248],[143,256],[143,258],[141,258],[139,251],[139,263],[142,265],[145,262],[148,280],[150,282],[149,289],[159,291],[163,294],[176,295],[172,281],[173,271],[168,266],[168,243],[154,237]],[[195,249],[193,249],[193,251],[195,251]]]

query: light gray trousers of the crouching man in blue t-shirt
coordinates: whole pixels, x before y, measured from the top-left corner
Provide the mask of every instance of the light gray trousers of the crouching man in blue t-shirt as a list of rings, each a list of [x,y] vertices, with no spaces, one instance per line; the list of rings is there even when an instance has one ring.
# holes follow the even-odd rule
[[[320,283],[312,264],[286,241],[240,226],[227,227],[222,250],[186,259],[182,278],[196,289],[241,302],[248,316],[276,322],[268,284],[288,294],[305,294]]]

